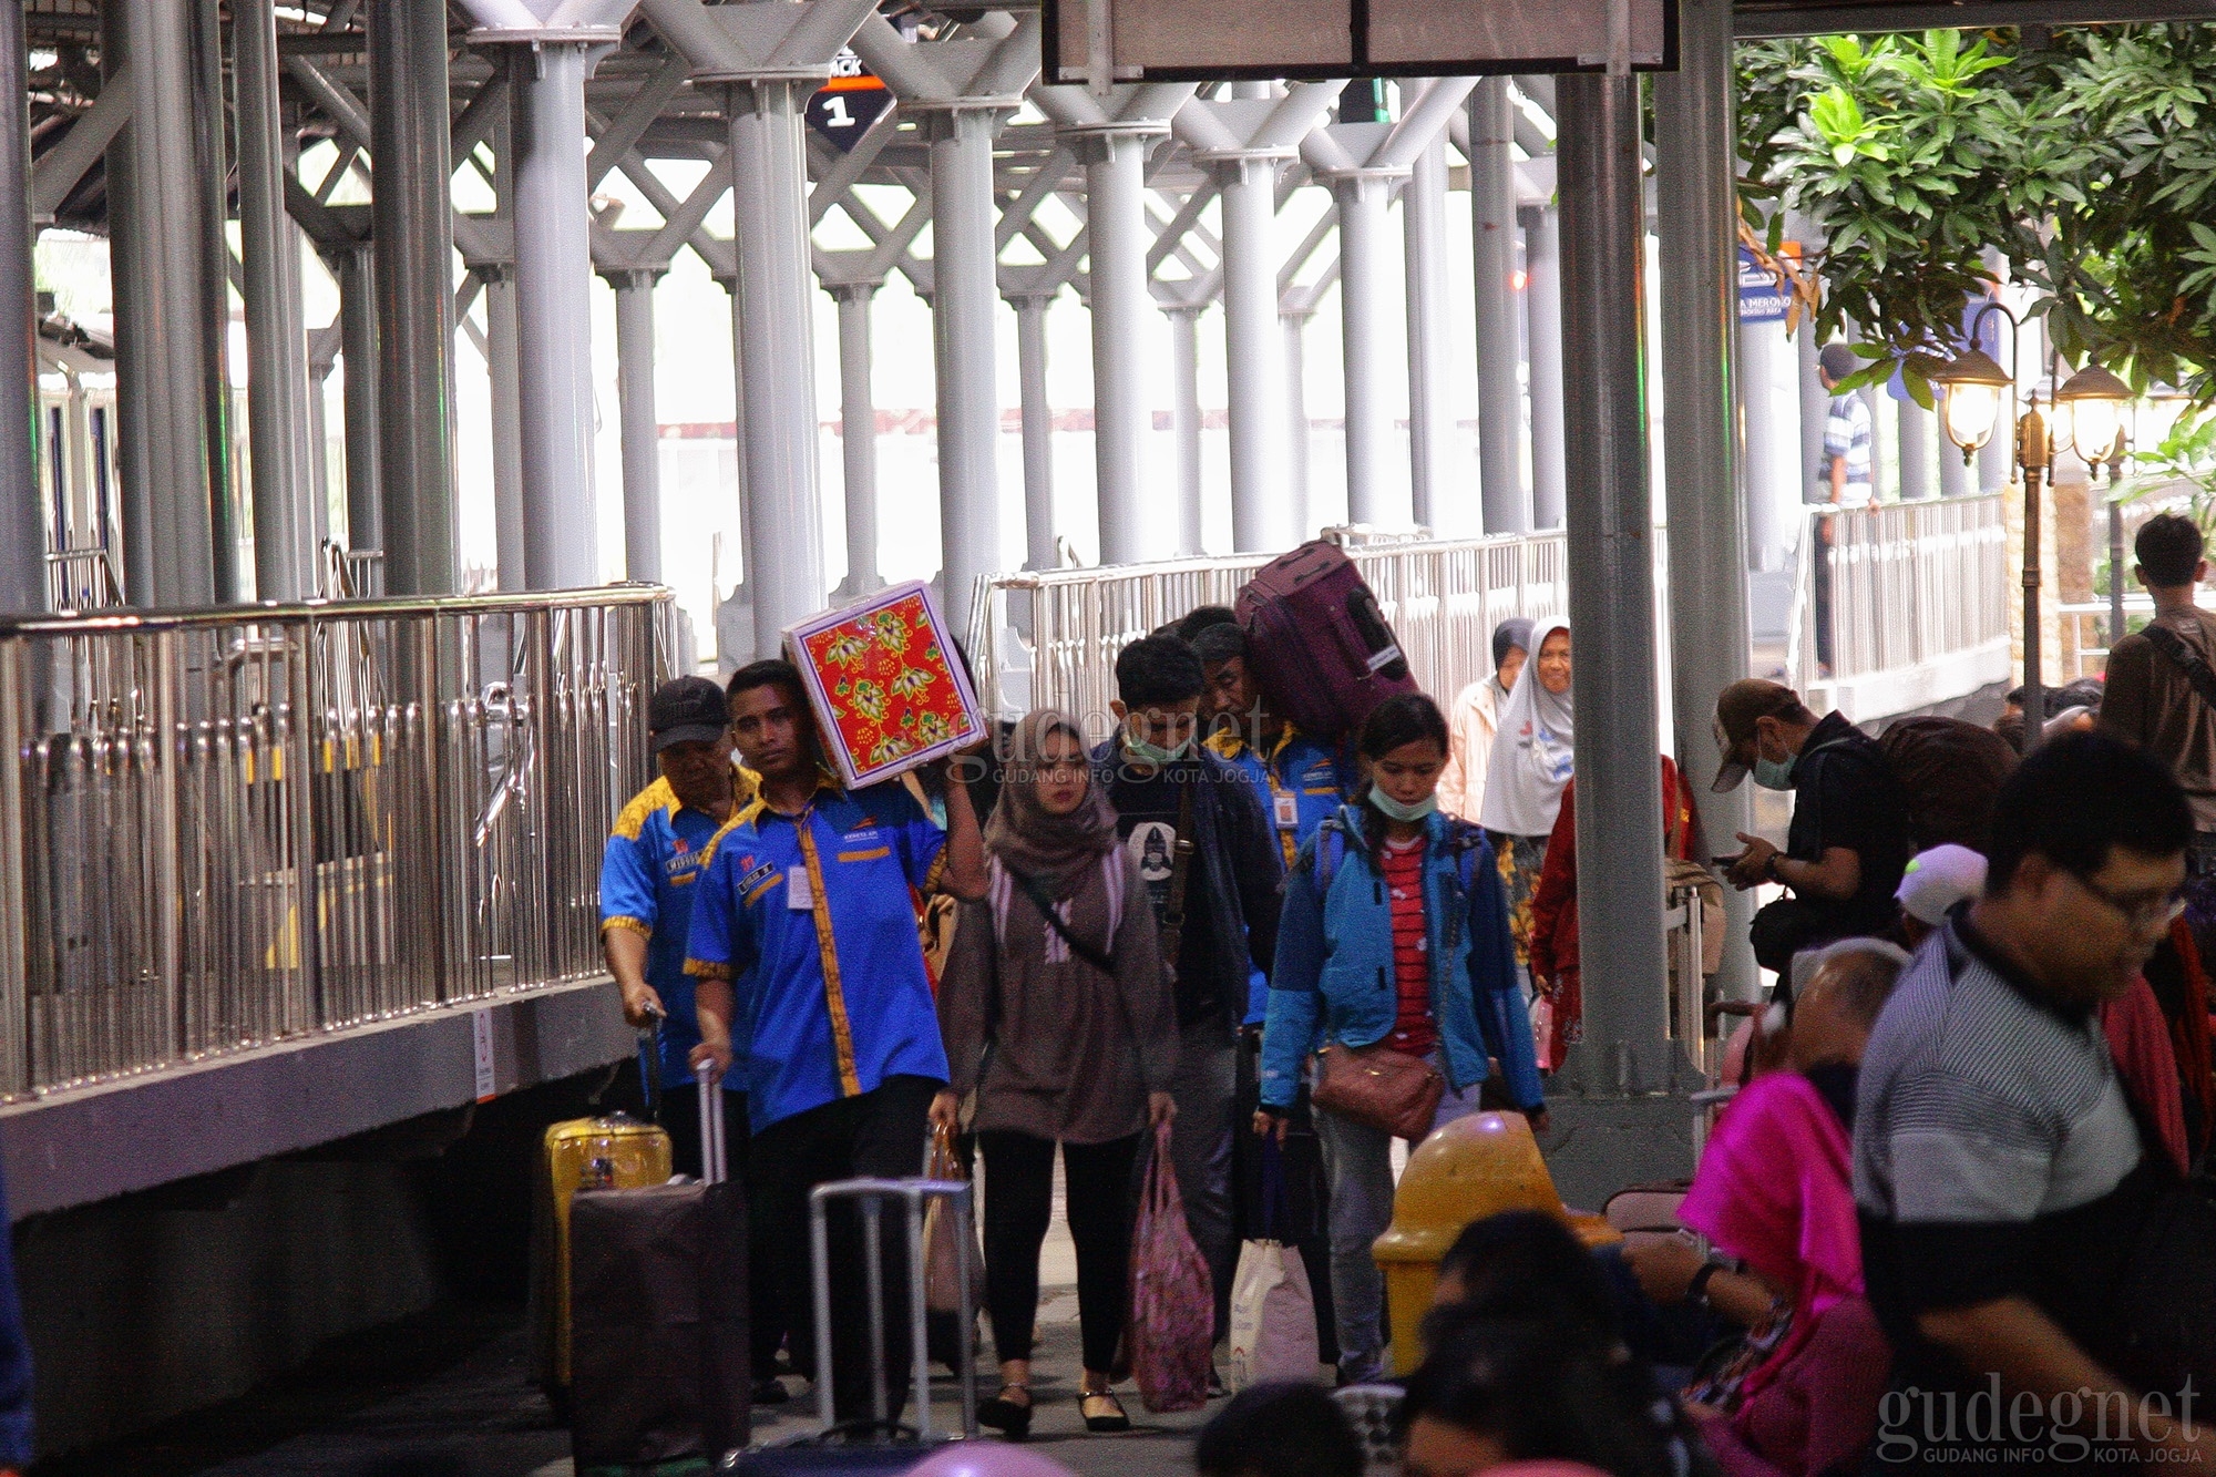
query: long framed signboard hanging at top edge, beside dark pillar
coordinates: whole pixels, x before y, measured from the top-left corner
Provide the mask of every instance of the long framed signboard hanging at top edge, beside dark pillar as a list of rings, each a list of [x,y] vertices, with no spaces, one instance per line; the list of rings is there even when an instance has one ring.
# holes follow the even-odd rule
[[[1044,0],[1046,75],[1086,82],[1108,7],[1117,82],[1600,71],[1609,0]],[[1631,0],[1631,67],[1678,64],[1673,0]]]

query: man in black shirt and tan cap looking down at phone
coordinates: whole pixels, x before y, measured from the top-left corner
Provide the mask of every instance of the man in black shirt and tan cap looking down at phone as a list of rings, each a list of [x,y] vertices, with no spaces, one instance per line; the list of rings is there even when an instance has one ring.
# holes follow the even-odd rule
[[[1844,714],[1817,719],[1799,694],[1746,679],[1715,701],[1715,743],[1724,767],[1715,792],[1748,774],[1764,790],[1793,792],[1793,829],[1779,852],[1762,836],[1731,863],[1740,892],[1782,883],[1791,898],[1755,914],[1755,962],[1775,969],[1791,991],[1793,956],[1802,949],[1884,934],[1892,925],[1892,892],[1908,867],[1908,805],[1877,741]]]

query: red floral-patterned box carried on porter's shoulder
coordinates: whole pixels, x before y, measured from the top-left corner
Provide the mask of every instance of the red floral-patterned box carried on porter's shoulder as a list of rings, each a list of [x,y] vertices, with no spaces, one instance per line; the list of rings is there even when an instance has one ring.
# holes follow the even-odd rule
[[[875,785],[984,736],[977,692],[931,585],[913,581],[784,628],[815,727],[849,787]]]

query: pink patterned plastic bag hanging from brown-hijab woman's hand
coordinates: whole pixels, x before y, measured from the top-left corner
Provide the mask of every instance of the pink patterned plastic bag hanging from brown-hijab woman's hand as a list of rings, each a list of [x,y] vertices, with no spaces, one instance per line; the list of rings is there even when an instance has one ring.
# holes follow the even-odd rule
[[[1170,1124],[1155,1129],[1155,1158],[1139,1191],[1130,1244],[1130,1373],[1155,1415],[1208,1404],[1208,1351],[1217,1342],[1217,1288],[1186,1231],[1186,1202],[1170,1167]]]

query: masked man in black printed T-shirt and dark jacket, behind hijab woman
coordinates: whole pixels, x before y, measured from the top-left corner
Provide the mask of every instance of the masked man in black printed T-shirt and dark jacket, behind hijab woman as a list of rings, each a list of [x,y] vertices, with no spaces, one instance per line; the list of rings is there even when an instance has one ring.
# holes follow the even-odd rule
[[[1117,832],[1139,863],[1163,958],[1177,965],[1177,1122],[1170,1153],[1186,1224],[1217,1280],[1228,1324],[1232,1257],[1232,1098],[1248,974],[1276,954],[1283,860],[1243,770],[1199,743],[1201,659],[1177,636],[1117,656],[1115,738],[1092,752]],[[1250,954],[1252,949],[1252,954]]]

